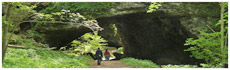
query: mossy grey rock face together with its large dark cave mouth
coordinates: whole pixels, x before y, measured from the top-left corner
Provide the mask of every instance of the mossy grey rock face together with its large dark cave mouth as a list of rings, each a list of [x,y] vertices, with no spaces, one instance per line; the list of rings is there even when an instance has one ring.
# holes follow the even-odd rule
[[[146,13],[148,3],[127,4],[130,8],[119,8],[123,13],[97,18],[99,25],[116,25],[120,45],[124,47],[127,57],[150,59],[157,64],[201,62],[190,58],[189,52],[184,52],[188,48],[184,43],[189,37],[197,37],[200,30],[207,30],[206,25],[217,22],[218,17],[215,15],[201,13],[203,10],[212,11],[209,5],[216,3],[163,3],[158,11],[151,14]],[[203,5],[205,9],[197,5]]]

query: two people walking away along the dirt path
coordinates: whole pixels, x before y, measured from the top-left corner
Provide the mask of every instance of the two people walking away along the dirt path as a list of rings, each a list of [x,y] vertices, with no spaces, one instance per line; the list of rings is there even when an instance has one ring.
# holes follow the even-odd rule
[[[96,55],[96,58],[97,58],[97,64],[100,65],[100,64],[101,64],[102,57],[103,57],[102,51],[100,50],[100,48],[97,49],[95,55]],[[105,56],[105,60],[108,61],[108,60],[109,60],[109,57],[110,57],[110,54],[109,54],[108,49],[105,50],[104,56]]]

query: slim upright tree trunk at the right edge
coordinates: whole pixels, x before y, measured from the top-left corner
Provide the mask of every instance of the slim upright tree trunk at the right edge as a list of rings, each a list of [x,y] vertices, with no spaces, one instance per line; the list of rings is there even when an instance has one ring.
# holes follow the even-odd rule
[[[221,53],[224,54],[224,4],[225,2],[220,2],[221,13],[220,13],[220,20],[221,20]],[[225,57],[222,57],[222,63],[225,63]]]

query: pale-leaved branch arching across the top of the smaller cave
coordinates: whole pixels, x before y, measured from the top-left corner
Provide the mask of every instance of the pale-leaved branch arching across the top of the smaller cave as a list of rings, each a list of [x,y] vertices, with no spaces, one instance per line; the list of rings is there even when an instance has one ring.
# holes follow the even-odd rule
[[[65,9],[62,9],[61,12],[55,12],[51,14],[37,13],[36,16],[33,16],[33,18],[38,21],[45,21],[38,22],[35,27],[46,24],[47,21],[53,21],[55,23],[79,23],[79,25],[88,27],[92,31],[103,30],[103,28],[98,25],[96,20],[86,19],[84,16],[80,15],[80,13],[71,13],[70,10]]]

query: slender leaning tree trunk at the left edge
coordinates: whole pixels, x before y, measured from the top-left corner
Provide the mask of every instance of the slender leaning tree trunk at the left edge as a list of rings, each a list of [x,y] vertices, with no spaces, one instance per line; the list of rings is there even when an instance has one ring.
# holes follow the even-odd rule
[[[9,21],[10,21],[10,13],[11,13],[11,10],[12,10],[13,6],[8,3],[7,4],[7,11],[6,11],[6,15],[5,15],[5,21],[9,24]],[[8,27],[9,25],[8,24],[3,24],[3,35],[2,35],[2,61],[4,60],[4,57],[5,57],[5,53],[6,53],[6,50],[7,50],[7,33],[8,33]]]

